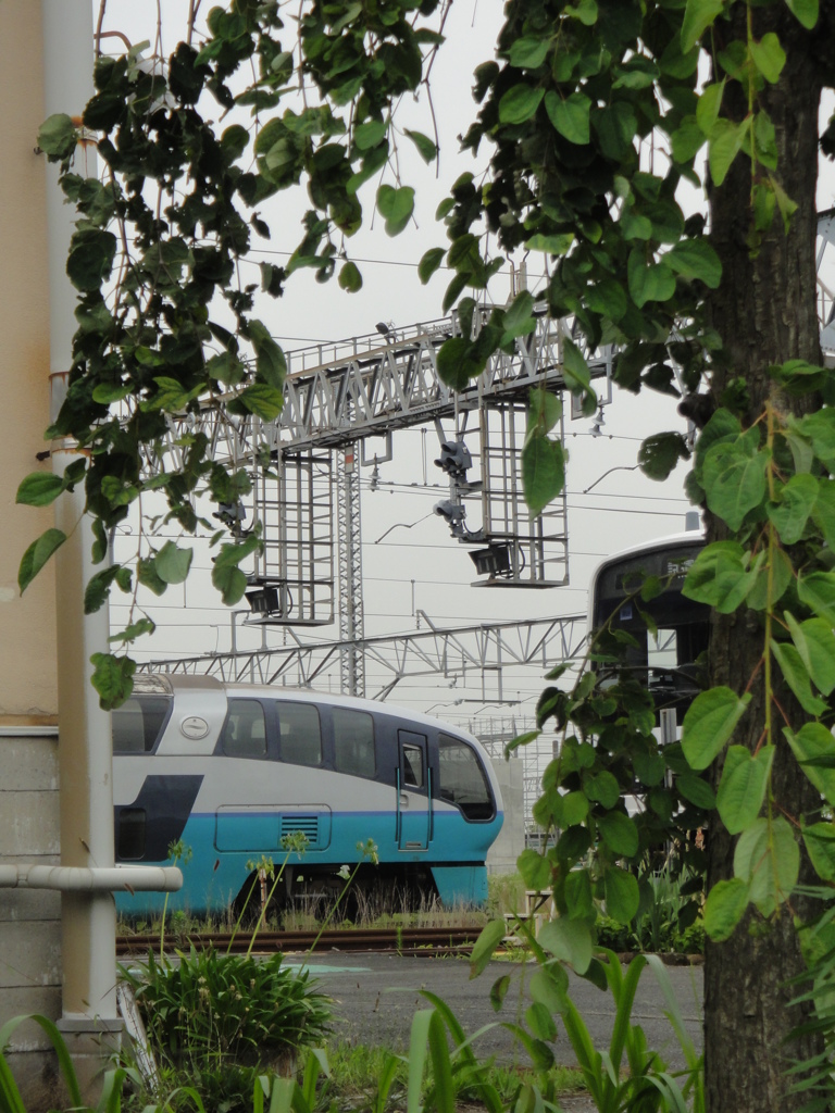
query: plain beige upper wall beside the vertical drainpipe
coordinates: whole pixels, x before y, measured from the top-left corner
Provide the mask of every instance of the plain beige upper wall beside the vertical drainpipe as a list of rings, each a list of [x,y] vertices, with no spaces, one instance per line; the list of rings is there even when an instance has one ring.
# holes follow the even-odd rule
[[[36,459],[49,447],[46,159],[35,154],[41,55],[38,0],[0,0],[0,727],[41,723],[58,700],[51,568],[22,598],[18,590],[20,558],[52,510],[14,504],[24,475],[50,470]]]

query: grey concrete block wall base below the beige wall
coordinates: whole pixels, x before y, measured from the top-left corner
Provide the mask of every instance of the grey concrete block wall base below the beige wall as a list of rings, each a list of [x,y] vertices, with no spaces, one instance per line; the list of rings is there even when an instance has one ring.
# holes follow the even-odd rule
[[[58,739],[0,735],[0,865],[59,861]],[[31,729],[31,728],[29,728]],[[45,889],[0,888],[0,1024],[12,1016],[61,1014],[61,900]],[[16,1030],[7,1061],[29,1110],[48,1107],[56,1062],[43,1030]]]

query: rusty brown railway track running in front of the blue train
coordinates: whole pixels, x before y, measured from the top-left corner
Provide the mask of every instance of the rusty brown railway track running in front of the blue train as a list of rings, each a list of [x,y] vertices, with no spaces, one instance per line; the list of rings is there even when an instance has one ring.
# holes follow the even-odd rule
[[[460,955],[472,951],[480,932],[480,927],[334,928],[321,935],[318,932],[258,932],[253,951],[257,954],[391,951],[401,955]],[[230,932],[202,932],[185,936],[169,934],[165,937],[167,951],[213,946],[219,952],[242,954],[249,948],[250,942],[250,932],[238,932],[234,938]],[[158,949],[158,933],[119,935],[116,939],[116,954],[119,957],[144,955],[148,951]]]

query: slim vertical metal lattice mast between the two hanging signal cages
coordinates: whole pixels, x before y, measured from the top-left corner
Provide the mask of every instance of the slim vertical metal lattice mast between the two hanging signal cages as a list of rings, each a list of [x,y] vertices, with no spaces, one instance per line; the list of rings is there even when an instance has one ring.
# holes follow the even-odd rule
[[[336,453],[337,536],[340,561],[340,684],[345,696],[365,695],[360,469],[356,447]]]

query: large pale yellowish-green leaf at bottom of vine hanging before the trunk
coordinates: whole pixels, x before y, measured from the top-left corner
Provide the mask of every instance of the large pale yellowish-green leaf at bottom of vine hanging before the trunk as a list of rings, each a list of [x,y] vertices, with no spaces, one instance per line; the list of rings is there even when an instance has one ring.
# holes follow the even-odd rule
[[[748,885],[748,899],[768,917],[787,900],[797,884],[800,848],[782,817],[763,816],[739,836],[734,874]]]

